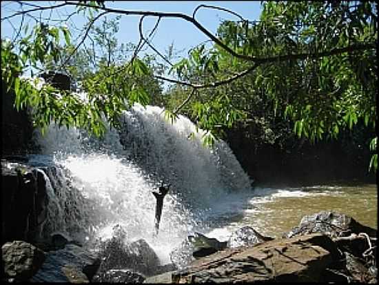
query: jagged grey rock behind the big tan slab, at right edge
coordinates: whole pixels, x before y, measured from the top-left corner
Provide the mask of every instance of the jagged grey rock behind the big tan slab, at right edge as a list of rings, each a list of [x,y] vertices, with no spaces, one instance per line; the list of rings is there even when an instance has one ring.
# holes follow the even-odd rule
[[[310,233],[324,233],[329,237],[348,236],[351,233],[367,233],[371,237],[376,237],[377,230],[364,226],[347,215],[331,210],[323,210],[320,213],[303,217],[300,224],[292,228],[283,237],[294,237],[295,235],[307,235]]]

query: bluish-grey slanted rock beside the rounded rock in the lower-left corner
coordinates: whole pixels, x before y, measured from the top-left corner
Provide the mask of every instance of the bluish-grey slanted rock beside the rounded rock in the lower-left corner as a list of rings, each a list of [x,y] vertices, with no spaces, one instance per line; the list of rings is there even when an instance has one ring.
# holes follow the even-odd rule
[[[30,279],[32,282],[88,282],[92,276],[88,274],[91,266],[96,272],[99,268],[99,257],[80,246],[68,244],[60,250],[52,250],[46,254],[45,262],[36,275]]]

